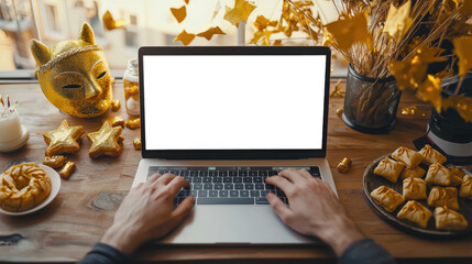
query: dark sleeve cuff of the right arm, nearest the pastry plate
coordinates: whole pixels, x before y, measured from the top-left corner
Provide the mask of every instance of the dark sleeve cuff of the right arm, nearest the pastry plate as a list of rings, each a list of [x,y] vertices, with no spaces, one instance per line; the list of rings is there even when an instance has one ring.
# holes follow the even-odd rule
[[[338,264],[395,264],[392,255],[371,239],[352,243],[339,257]]]

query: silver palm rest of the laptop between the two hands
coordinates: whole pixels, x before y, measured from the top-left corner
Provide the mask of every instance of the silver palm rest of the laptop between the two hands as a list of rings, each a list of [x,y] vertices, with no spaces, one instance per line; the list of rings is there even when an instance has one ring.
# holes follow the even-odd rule
[[[319,243],[287,228],[270,206],[196,206],[165,244]]]

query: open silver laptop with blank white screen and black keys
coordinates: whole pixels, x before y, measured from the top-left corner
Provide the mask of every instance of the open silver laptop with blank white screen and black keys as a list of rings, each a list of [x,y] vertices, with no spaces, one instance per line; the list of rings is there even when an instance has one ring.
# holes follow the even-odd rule
[[[196,205],[163,244],[310,244],[268,205],[265,184],[306,168],[336,194],[327,148],[330,50],[317,46],[154,46],[139,51],[142,156],[190,182]]]

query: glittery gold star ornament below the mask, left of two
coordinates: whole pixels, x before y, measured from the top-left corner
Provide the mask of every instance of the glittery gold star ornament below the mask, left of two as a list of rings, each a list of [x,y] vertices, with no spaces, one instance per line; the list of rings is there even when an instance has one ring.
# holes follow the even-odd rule
[[[64,120],[59,128],[43,134],[44,141],[50,144],[46,148],[46,155],[53,156],[63,153],[74,153],[80,150],[77,142],[85,133],[81,125],[70,127],[67,120]]]

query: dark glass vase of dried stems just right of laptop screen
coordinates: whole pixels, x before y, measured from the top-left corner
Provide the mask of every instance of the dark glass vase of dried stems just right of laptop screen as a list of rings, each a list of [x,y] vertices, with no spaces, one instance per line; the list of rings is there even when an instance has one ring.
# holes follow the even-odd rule
[[[395,127],[400,96],[393,76],[369,78],[349,65],[342,120],[363,133],[388,133]]]

